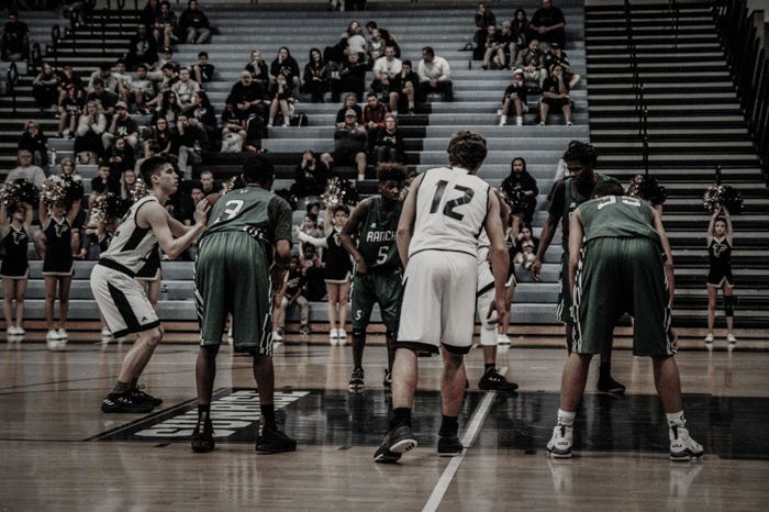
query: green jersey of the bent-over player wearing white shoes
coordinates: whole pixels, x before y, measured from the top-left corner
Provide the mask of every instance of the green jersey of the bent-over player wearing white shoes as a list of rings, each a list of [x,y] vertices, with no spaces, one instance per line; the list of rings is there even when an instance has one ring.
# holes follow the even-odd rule
[[[605,196],[579,207],[584,241],[595,238],[651,238],[659,242],[651,204],[638,198]]]

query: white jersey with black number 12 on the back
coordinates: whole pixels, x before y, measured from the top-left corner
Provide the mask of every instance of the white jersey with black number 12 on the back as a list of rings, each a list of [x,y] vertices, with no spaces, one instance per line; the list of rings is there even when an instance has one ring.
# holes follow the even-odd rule
[[[422,251],[478,254],[490,186],[460,167],[426,170],[416,191],[416,219],[409,256]]]

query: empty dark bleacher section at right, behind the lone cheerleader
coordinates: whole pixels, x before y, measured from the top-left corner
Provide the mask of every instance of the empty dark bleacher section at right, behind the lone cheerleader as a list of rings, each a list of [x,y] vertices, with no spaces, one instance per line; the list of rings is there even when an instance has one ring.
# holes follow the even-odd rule
[[[709,215],[702,194],[720,165],[724,182],[745,198],[743,214],[734,218],[736,325],[766,327],[769,194],[716,35],[712,4],[633,5],[631,23],[648,109],[649,168],[668,190],[665,224],[676,261],[676,322],[705,324]],[[625,182],[643,172],[627,42],[621,3],[586,8],[590,137],[600,149],[601,171]]]

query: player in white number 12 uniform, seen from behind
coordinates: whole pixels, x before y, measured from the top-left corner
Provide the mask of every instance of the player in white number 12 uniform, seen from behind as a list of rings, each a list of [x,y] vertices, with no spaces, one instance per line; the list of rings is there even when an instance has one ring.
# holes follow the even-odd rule
[[[398,253],[405,268],[398,338],[393,344],[393,418],[374,456],[395,463],[416,446],[411,409],[416,390],[417,354],[443,354],[443,421],[438,455],[461,453],[458,416],[467,380],[464,355],[472,346],[478,280],[478,236],[489,234],[494,275],[490,315],[506,310],[504,282],[510,258],[504,244],[500,204],[489,183],[476,174],[486,158],[486,138],[457,132],[448,144],[450,167],[417,177],[409,190],[398,224]],[[443,347],[443,350],[441,348]]]

